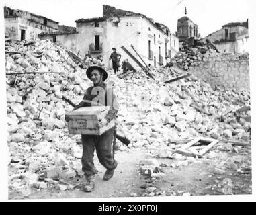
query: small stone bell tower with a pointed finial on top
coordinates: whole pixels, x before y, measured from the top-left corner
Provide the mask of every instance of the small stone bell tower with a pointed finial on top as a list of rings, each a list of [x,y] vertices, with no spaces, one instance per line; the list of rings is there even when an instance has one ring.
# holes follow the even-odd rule
[[[181,17],[177,21],[177,36],[179,38],[179,42],[187,42],[189,38],[200,38],[198,25],[186,15],[187,11],[185,10],[185,16]]]

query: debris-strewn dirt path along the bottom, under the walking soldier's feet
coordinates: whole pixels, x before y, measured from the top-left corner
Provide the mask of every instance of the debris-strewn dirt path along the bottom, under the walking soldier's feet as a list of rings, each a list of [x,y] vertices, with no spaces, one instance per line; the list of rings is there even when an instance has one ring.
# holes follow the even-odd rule
[[[231,155],[232,156],[232,155]],[[247,155],[245,155],[246,158]],[[19,193],[9,193],[10,199],[51,199],[51,198],[119,198],[130,196],[180,196],[180,195],[220,195],[220,194],[250,194],[251,174],[239,175],[235,169],[226,169],[223,173],[214,170],[218,165],[210,159],[201,159],[198,163],[187,166],[171,168],[172,159],[153,158],[148,155],[145,148],[127,148],[116,153],[118,168],[110,181],[103,181],[105,169],[95,158],[95,165],[99,171],[95,190],[85,193],[81,188],[68,191],[56,189],[42,189],[30,196]],[[165,177],[155,182],[148,181],[139,174],[139,161],[141,159],[157,159],[162,167]],[[83,178],[76,177],[65,181],[72,185],[81,184]],[[231,181],[232,189],[225,187],[224,181]],[[225,189],[226,188],[226,189]],[[151,190],[151,194],[147,193]],[[156,194],[156,191],[159,191]]]

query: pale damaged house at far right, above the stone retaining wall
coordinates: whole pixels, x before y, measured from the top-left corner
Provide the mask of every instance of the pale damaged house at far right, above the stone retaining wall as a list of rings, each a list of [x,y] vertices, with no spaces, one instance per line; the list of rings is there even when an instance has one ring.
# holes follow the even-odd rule
[[[210,40],[220,52],[244,53],[249,52],[248,19],[246,22],[231,22],[220,30],[202,39]]]

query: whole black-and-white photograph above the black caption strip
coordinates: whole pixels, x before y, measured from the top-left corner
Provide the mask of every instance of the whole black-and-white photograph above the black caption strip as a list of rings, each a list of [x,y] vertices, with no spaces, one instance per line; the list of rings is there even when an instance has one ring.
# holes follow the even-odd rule
[[[251,196],[249,9],[5,0],[8,200]]]

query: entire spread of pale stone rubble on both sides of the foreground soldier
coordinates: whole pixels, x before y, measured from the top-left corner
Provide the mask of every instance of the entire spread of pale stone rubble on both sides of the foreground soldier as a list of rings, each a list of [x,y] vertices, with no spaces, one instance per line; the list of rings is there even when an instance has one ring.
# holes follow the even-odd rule
[[[83,175],[77,144],[81,136],[68,133],[65,113],[73,107],[62,96],[78,104],[91,81],[50,40],[6,47],[7,74],[41,73],[7,75],[9,188],[23,194],[49,187],[73,189],[63,180]],[[124,79],[108,72],[120,105],[118,128],[132,140],[129,147],[144,146],[155,157],[172,157],[174,140],[183,138],[250,140],[249,111],[236,115],[239,107],[250,104],[248,91],[214,91],[193,75],[165,84],[183,73],[174,67],[153,71],[155,81],[143,71]],[[117,145],[126,148],[119,141]],[[161,168],[141,170],[150,177],[161,175]]]

